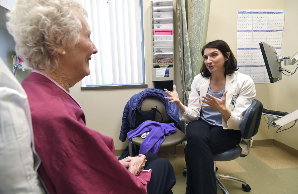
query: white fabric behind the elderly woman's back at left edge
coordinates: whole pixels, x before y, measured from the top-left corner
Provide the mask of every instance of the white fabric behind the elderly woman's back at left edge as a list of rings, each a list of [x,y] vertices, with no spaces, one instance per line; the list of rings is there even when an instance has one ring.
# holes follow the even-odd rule
[[[0,58],[0,193],[45,193],[27,95]]]

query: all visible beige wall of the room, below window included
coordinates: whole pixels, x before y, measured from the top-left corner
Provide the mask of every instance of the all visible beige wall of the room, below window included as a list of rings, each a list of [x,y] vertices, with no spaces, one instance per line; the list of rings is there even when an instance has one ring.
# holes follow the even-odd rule
[[[244,0],[211,0],[210,18],[207,34],[207,42],[215,39],[225,40],[232,51],[237,53],[237,10],[238,9],[283,9],[285,12],[285,27],[282,39],[282,55],[292,56],[298,49],[295,32],[297,32],[298,7],[296,0],[264,0],[264,1],[244,1]],[[174,6],[175,11],[175,6]],[[151,80],[151,4],[149,0],[143,0],[144,12],[144,36],[145,36],[145,66],[146,83],[149,88],[154,87]],[[176,18],[174,18],[174,23]],[[175,25],[174,25],[175,26]],[[174,29],[174,35],[177,29]],[[177,36],[176,36],[177,37]],[[177,40],[175,47],[175,80],[178,93],[181,94],[181,81],[177,55]],[[287,69],[294,69],[294,65],[287,66]],[[129,98],[145,88],[138,89],[109,89],[95,91],[80,91],[82,83],[77,83],[70,89],[70,93],[78,100],[86,115],[87,126],[95,129],[104,135],[114,139],[115,149],[124,149],[128,143],[120,142],[119,133],[122,121],[123,109]],[[298,108],[297,74],[290,77],[283,76],[279,83],[255,84],[257,96],[264,107],[271,110],[291,112]],[[277,91],[277,92],[274,92]],[[181,95],[180,95],[181,96]],[[267,119],[267,118],[266,118]],[[298,126],[298,124],[297,124]],[[288,131],[275,133],[274,128],[267,129],[267,124],[262,118],[259,133],[256,140],[276,139],[288,146],[298,149],[296,138],[298,137],[298,127],[295,126]]]

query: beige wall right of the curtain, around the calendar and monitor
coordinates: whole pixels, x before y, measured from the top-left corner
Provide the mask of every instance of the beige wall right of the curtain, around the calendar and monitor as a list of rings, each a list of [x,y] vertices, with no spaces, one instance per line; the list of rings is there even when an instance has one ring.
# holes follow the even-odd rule
[[[237,54],[237,10],[240,9],[281,9],[284,10],[285,25],[282,36],[282,56],[293,56],[298,51],[296,38],[298,26],[298,12],[296,0],[211,0],[207,42],[215,39],[225,40],[232,52]],[[286,66],[293,70],[295,65]],[[260,100],[264,108],[278,111],[291,112],[298,108],[298,75],[283,76],[279,83],[256,83],[256,99]],[[267,117],[266,117],[267,119]],[[282,127],[286,129],[291,125]],[[275,128],[267,129],[264,118],[261,120],[259,132],[255,140],[275,139],[290,147],[298,149],[298,124],[281,133],[275,133]]]

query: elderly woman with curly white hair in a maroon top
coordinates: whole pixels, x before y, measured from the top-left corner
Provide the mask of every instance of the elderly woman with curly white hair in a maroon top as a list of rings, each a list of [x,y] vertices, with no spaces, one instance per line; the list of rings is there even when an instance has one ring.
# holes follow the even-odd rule
[[[118,161],[113,140],[85,125],[69,88],[90,74],[97,49],[86,11],[75,0],[18,0],[7,14],[16,53],[34,70],[28,95],[38,173],[49,193],[172,193],[175,174],[147,153]]]

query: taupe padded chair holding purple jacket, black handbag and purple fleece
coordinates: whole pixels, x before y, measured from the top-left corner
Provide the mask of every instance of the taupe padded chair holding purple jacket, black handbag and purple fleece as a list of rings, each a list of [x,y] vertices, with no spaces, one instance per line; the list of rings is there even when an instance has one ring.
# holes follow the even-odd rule
[[[144,99],[142,102],[141,110],[142,111],[150,111],[151,107],[157,106],[157,109],[160,111],[162,118],[163,118],[163,123],[169,123],[171,122],[171,118],[167,114],[167,111],[165,110],[165,104],[158,98],[154,97],[147,97]],[[161,122],[161,115],[156,114],[155,116],[155,121]],[[174,122],[174,121],[173,121]],[[132,144],[135,145],[141,145],[144,139],[141,137],[135,137],[132,138],[131,141],[129,141],[129,156],[133,156],[133,149],[132,149]],[[176,145],[179,143],[183,142],[185,140],[185,134],[180,131],[179,129],[176,129],[176,132],[165,136],[165,140],[162,142],[160,147],[169,147],[169,146],[175,146],[174,147],[174,154],[176,154]]]

